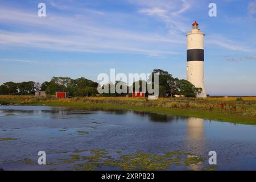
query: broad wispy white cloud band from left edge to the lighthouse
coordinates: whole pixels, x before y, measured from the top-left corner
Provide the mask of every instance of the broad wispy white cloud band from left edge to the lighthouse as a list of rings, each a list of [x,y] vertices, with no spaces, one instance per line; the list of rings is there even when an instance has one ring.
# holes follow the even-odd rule
[[[72,16],[36,14],[0,7],[0,22],[27,28],[30,32],[0,31],[2,47],[23,46],[81,52],[138,53],[149,56],[174,54],[172,47],[185,44],[168,36],[133,32],[103,26]],[[32,31],[34,30],[34,31]],[[45,32],[51,31],[51,34]],[[154,45],[154,46],[153,46]]]

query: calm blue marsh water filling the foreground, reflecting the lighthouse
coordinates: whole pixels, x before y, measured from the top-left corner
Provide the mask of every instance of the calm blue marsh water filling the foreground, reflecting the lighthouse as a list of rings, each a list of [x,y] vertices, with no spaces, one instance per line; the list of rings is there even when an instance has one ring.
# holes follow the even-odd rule
[[[47,165],[38,164],[39,151],[46,152]],[[216,151],[216,170],[256,170],[256,126],[130,110],[0,106],[4,170],[133,169],[122,168],[127,162],[116,162],[121,159],[137,159],[135,167],[142,162],[148,169],[146,158],[174,151],[204,160],[168,160],[164,168],[149,169],[204,170],[211,167],[209,151]]]

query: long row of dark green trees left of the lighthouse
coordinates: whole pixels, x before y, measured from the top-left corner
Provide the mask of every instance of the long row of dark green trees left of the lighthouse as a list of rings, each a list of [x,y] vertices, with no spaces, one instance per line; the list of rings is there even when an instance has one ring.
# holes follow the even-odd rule
[[[186,97],[196,97],[197,94],[201,93],[201,88],[196,88],[195,85],[191,84],[187,80],[179,80],[179,78],[174,78],[167,71],[162,69],[154,69],[150,79],[151,84],[154,85],[154,73],[159,75],[159,97],[174,97],[175,94],[182,94]],[[139,85],[142,89],[142,82],[146,82],[144,85],[148,84],[148,80],[140,80],[136,84],[135,82],[131,85],[132,89],[135,90],[135,85]],[[116,81],[114,85],[121,83],[121,81]],[[108,86],[110,89],[112,83],[102,85]],[[127,93],[129,93],[129,86],[122,82],[122,86],[125,86]],[[51,81],[45,81],[42,84],[34,81],[24,81],[24,82],[5,82],[0,85],[0,94],[2,95],[34,95],[35,92],[41,90],[45,91],[46,94],[55,94],[56,92],[68,92],[69,96],[108,96],[108,97],[118,97],[126,96],[127,93],[102,93],[99,94],[97,91],[98,82],[88,80],[84,77],[72,79],[69,77],[52,77]],[[122,88],[121,88],[122,89]],[[144,88],[147,96],[147,87]]]

